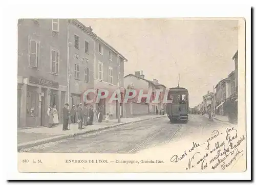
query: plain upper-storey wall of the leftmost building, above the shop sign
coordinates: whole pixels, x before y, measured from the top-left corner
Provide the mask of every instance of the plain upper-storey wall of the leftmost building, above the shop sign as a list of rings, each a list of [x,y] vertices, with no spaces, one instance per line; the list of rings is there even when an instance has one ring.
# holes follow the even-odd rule
[[[18,76],[36,76],[67,86],[67,20],[59,19],[59,32],[52,31],[52,19],[23,19],[18,25]],[[39,42],[38,67],[29,66],[30,40]],[[51,49],[59,51],[59,73],[51,72]]]

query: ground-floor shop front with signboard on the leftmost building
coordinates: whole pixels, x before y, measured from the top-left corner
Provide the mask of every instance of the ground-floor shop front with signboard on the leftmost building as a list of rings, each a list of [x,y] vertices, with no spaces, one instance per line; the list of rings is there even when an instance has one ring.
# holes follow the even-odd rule
[[[48,124],[47,109],[53,104],[61,110],[61,95],[65,86],[58,82],[30,76],[18,81],[18,127],[37,127]],[[64,99],[65,100],[65,99]],[[61,111],[59,111],[59,118]]]

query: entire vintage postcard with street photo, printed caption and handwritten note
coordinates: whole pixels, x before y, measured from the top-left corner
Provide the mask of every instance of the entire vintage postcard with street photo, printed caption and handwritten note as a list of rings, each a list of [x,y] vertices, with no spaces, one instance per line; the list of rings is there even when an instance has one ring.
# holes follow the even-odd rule
[[[20,18],[18,171],[246,171],[245,21]]]

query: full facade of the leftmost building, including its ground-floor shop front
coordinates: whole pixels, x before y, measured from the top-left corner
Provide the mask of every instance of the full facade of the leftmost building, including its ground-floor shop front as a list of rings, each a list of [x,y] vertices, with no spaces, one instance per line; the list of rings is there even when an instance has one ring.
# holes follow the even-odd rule
[[[47,108],[61,109],[67,91],[67,21],[59,19],[58,31],[52,19],[18,21],[18,127],[47,125]],[[30,43],[37,45],[37,65],[30,65]],[[53,72],[52,50],[58,52],[58,70]],[[33,50],[32,50],[33,51]],[[31,55],[33,56],[33,55]],[[35,56],[35,54],[34,54]],[[54,85],[53,85],[54,84]],[[61,111],[59,111],[61,121]]]

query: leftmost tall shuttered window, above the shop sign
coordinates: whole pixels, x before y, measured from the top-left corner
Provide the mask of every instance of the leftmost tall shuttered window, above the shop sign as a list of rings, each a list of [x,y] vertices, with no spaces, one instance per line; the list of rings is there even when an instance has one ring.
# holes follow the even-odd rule
[[[29,65],[31,67],[37,67],[38,66],[38,56],[39,56],[39,41],[30,40]]]

